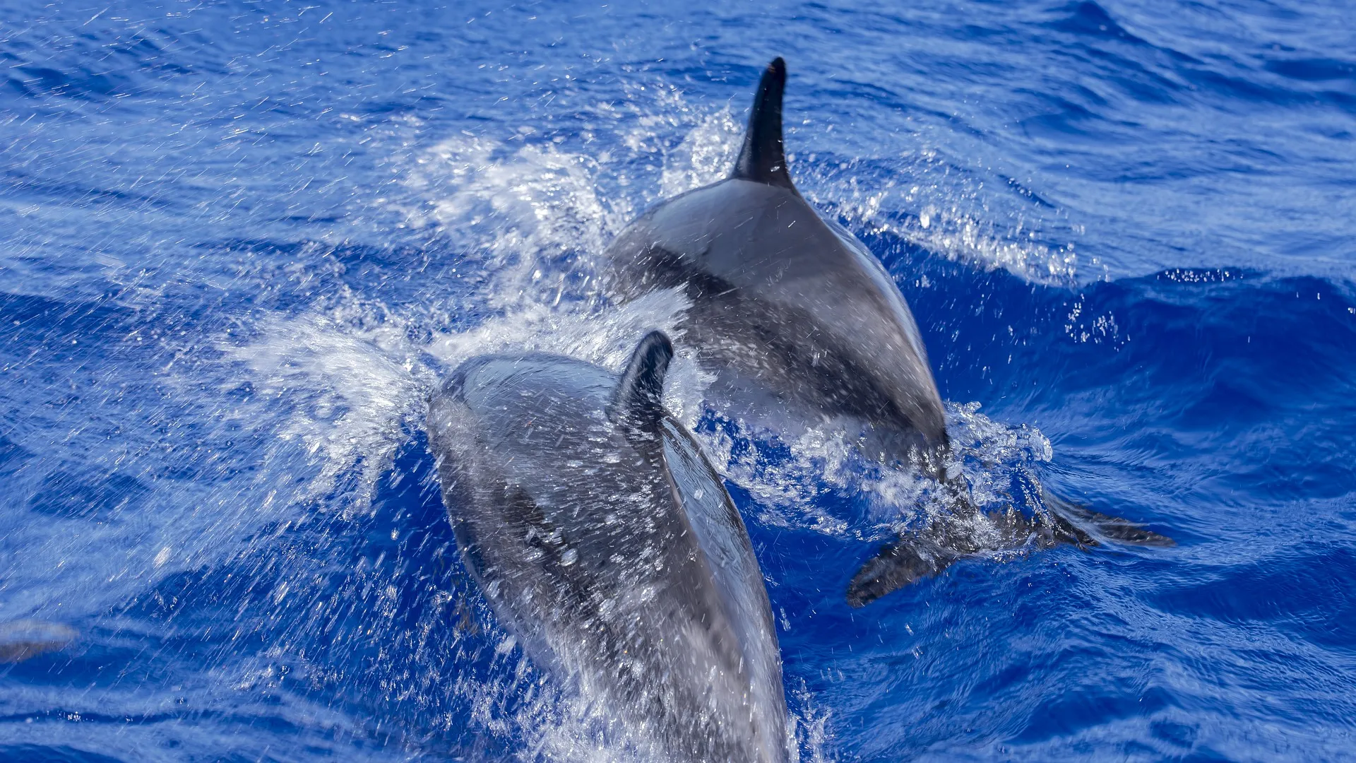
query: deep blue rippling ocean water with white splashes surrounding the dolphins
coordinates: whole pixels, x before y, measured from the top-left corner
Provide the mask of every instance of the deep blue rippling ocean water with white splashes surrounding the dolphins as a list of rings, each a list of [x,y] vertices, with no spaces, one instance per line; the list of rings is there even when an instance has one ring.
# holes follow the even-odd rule
[[[671,322],[593,258],[778,54],[976,490],[1178,542],[849,610],[917,486],[679,358],[800,759],[1356,759],[1356,14],[899,5],[3,3],[0,622],[80,635],[0,665],[0,759],[606,759],[469,584],[424,395]]]

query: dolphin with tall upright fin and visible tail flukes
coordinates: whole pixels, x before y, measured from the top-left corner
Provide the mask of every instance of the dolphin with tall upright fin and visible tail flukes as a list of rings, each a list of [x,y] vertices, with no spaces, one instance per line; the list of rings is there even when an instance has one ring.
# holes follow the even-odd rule
[[[1052,497],[1048,515],[1009,509],[990,515],[989,532],[965,529],[979,509],[963,478],[945,470],[945,413],[918,324],[865,244],[822,219],[792,183],[781,132],[785,81],[777,58],[758,86],[730,176],[645,212],[607,247],[602,269],[620,301],[683,289],[692,307],[679,327],[717,375],[717,395],[742,395],[753,382],[778,407],[861,425],[868,456],[938,479],[961,521],[933,523],[881,550],[849,584],[848,603],[864,606],[965,555],[1032,540],[1172,544]]]

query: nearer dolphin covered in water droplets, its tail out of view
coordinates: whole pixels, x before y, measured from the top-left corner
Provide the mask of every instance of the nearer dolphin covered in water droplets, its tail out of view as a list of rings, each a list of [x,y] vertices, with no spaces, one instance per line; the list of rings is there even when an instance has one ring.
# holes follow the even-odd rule
[[[784,763],[786,703],[749,532],[660,402],[673,345],[618,377],[559,356],[485,356],[430,402],[461,553],[540,665],[645,759]]]

